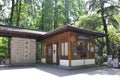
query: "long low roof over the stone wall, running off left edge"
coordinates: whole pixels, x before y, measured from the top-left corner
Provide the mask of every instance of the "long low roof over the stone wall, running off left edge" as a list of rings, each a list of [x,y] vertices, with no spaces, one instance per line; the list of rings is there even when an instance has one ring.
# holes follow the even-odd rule
[[[0,25],[0,36],[3,37],[42,38],[42,36],[46,33],[47,32],[20,27]]]

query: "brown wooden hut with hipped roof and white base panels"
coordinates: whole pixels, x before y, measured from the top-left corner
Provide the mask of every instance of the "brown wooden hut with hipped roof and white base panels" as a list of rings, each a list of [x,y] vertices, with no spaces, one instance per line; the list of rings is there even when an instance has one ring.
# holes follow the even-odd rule
[[[44,35],[42,62],[65,67],[95,64],[95,39],[106,34],[65,25]]]

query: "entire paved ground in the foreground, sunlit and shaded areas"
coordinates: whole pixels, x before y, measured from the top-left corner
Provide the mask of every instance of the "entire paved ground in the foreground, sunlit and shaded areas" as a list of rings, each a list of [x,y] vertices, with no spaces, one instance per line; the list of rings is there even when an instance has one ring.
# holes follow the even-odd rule
[[[51,65],[0,67],[0,82],[120,82],[120,69],[62,69]]]

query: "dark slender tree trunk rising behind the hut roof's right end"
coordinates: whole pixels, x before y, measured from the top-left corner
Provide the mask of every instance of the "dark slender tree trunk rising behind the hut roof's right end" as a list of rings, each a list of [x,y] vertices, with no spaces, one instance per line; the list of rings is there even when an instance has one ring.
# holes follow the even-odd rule
[[[104,31],[106,34],[108,34],[108,30],[107,30],[107,24],[104,18],[104,2],[102,0],[101,1],[101,17],[102,17],[102,23],[104,26]],[[106,48],[107,48],[107,55],[110,55],[110,46],[109,46],[109,38],[108,36],[106,36]]]

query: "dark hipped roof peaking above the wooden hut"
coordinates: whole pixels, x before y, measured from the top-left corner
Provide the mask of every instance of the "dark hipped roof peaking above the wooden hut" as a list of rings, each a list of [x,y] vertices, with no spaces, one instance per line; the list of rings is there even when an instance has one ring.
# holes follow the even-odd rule
[[[75,27],[72,25],[65,25],[63,27],[57,28],[51,32],[46,33],[44,36],[53,36],[53,35],[60,34],[60,33],[66,32],[66,31],[72,31],[72,32],[78,32],[78,33],[82,33],[82,34],[93,35],[96,38],[104,37],[107,35],[105,33],[97,32],[97,31],[93,31],[93,30],[87,30],[87,29]]]

